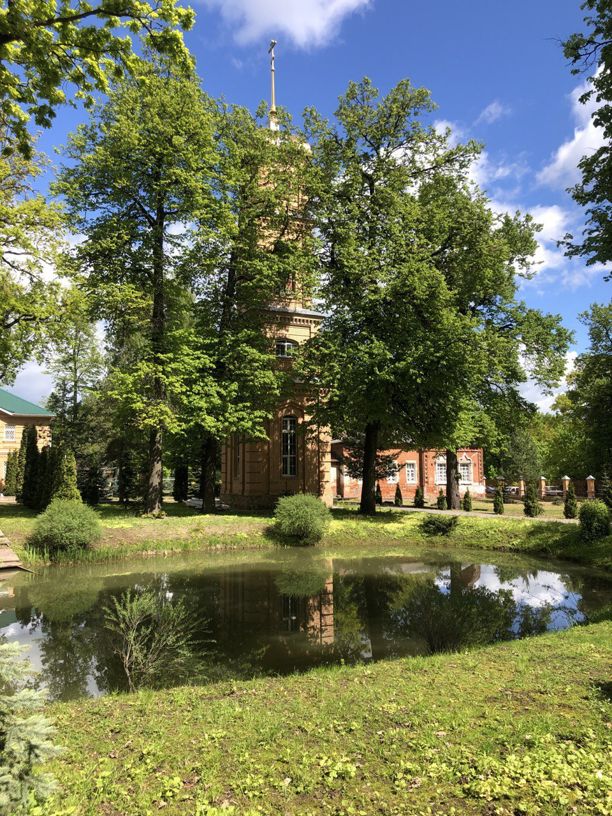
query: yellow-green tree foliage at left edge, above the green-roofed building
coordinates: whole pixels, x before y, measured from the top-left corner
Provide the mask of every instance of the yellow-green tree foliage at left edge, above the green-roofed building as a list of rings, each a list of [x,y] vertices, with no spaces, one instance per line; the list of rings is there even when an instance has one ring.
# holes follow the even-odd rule
[[[33,190],[42,168],[40,156],[24,159],[10,152],[10,140],[0,125],[2,383],[12,383],[27,360],[40,356],[58,314],[57,284],[45,280],[43,273],[61,246],[62,221],[58,208]]]

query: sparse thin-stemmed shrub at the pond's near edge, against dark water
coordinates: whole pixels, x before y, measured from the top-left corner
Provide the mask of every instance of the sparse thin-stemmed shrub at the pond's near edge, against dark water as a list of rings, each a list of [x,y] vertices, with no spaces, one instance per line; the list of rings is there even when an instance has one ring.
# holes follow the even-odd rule
[[[193,676],[202,621],[183,601],[169,601],[152,589],[129,589],[104,608],[104,625],[130,691],[180,685]]]

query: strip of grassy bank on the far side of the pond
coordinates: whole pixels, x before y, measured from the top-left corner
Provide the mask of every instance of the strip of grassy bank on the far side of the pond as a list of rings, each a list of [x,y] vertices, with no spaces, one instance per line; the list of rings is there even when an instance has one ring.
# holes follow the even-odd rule
[[[103,536],[83,561],[107,561],[148,553],[206,549],[260,549],[278,545],[271,534],[269,515],[220,513],[202,515],[183,505],[168,504],[164,519],[142,518],[134,510],[101,505],[98,510]],[[382,508],[373,518],[358,516],[354,509],[336,509],[322,542],[335,551],[347,545],[392,548],[394,545],[436,546],[504,550],[546,555],[600,569],[612,569],[612,536],[585,544],[577,525],[532,521],[515,517],[461,516],[449,537],[426,536],[421,531],[422,513]],[[0,504],[0,529],[26,563],[37,559],[26,549],[35,515],[14,504]]]

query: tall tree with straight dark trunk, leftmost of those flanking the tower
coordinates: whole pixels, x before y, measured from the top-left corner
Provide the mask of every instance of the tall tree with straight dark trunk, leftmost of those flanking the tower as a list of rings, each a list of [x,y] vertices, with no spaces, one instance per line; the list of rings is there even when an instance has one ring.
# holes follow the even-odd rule
[[[177,269],[190,245],[188,225],[204,221],[212,194],[212,117],[195,80],[140,64],[96,118],[70,139],[57,185],[75,228],[87,240],[75,251],[83,286],[111,332],[137,337],[133,365],[109,376],[115,398],[149,436],[145,510],[162,503],[165,431],[180,429],[171,405],[185,377],[209,381],[206,350],[185,325],[189,309]]]

